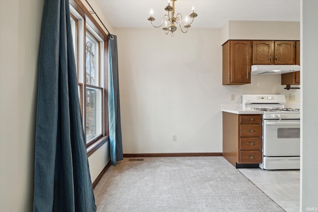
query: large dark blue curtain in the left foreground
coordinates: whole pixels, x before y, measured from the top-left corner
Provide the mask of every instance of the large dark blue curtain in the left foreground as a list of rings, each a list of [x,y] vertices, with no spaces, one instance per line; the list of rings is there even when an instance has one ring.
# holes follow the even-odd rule
[[[36,114],[34,212],[95,212],[69,0],[46,0]]]

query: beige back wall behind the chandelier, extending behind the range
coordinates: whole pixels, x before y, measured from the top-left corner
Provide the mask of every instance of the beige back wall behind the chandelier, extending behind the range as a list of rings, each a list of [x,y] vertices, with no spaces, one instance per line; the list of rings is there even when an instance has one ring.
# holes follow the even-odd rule
[[[220,29],[174,37],[117,29],[117,36],[124,153],[222,152],[222,103],[253,93],[295,93],[299,102],[299,90],[283,89],[280,75],[222,85]]]

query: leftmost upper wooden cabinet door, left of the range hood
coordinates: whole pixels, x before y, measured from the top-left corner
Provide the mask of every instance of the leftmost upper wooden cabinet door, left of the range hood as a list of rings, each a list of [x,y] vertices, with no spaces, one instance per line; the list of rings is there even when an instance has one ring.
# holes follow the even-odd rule
[[[250,41],[231,41],[231,83],[250,83]]]

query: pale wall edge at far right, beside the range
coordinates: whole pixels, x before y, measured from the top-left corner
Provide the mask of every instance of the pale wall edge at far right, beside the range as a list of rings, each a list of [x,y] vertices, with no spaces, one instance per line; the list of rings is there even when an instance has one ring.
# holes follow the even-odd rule
[[[301,211],[318,210],[318,1],[301,2]],[[313,27],[316,26],[316,27]],[[307,209],[310,208],[310,209]]]

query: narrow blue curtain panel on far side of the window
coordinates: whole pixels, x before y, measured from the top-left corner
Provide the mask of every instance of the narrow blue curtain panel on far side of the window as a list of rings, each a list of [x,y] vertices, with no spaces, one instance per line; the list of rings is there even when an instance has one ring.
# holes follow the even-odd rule
[[[111,164],[123,159],[121,137],[117,36],[108,35],[108,117]]]

